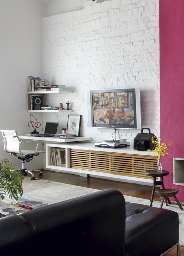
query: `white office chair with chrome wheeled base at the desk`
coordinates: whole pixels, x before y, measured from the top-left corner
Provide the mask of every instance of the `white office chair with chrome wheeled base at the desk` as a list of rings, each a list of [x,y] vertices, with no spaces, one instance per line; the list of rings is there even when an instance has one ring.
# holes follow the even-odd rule
[[[2,133],[2,136],[4,138],[4,150],[16,157],[18,159],[22,160],[22,169],[18,169],[15,171],[21,171],[25,176],[27,176],[27,173],[31,174],[31,180],[35,180],[35,175],[33,171],[38,171],[40,172],[39,176],[43,176],[42,172],[40,170],[35,170],[35,169],[26,169],[25,168],[25,161],[29,162],[33,159],[34,156],[38,156],[40,153],[44,153],[43,151],[38,151],[38,146],[39,146],[39,141],[38,140],[31,140],[31,141],[22,141],[19,139],[19,136],[16,131],[6,131],[6,130],[0,130]],[[29,146],[29,143],[31,142],[37,142],[37,146],[35,150],[24,150],[21,149],[21,145],[23,143],[27,143]]]

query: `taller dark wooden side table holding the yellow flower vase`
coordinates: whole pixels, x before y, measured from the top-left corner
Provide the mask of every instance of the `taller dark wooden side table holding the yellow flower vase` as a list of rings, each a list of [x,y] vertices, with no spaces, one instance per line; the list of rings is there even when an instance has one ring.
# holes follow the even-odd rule
[[[158,173],[156,170],[150,170],[150,171],[145,172],[145,174],[147,176],[153,177],[153,189],[152,189],[151,199],[150,199],[150,206],[152,206],[153,196],[154,196],[154,192],[155,192],[155,186],[162,185],[162,189],[165,189],[164,184],[163,184],[163,177],[169,175],[169,172],[162,170],[161,173]],[[156,177],[161,177],[161,181],[156,181]],[[167,198],[167,201],[168,201],[168,204],[171,204],[169,198]]]

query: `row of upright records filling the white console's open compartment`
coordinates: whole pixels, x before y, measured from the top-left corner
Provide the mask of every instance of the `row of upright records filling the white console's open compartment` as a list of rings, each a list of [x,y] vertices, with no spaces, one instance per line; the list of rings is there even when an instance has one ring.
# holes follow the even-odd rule
[[[52,166],[66,166],[65,148],[50,148]]]

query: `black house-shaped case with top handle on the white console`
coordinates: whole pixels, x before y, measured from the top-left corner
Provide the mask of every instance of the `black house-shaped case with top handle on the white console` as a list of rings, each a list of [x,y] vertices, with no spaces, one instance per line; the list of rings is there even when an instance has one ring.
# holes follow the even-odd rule
[[[143,133],[143,130],[148,130],[149,133]],[[154,144],[151,141],[151,137],[155,137],[153,133],[151,133],[149,128],[142,128],[141,133],[138,133],[134,139],[134,149],[139,151],[144,150],[153,150]],[[154,139],[157,139],[156,137]]]

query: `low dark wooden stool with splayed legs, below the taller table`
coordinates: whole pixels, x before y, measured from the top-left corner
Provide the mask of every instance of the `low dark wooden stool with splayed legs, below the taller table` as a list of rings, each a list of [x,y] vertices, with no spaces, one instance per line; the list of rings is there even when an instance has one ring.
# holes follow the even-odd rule
[[[183,210],[183,207],[181,206],[180,202],[176,198],[176,194],[178,191],[179,191],[178,189],[159,189],[159,190],[155,191],[159,196],[162,197],[161,203],[160,203],[160,208],[162,208],[162,206],[163,206],[164,198],[165,198],[165,204],[167,206],[167,198],[174,197],[174,199],[176,200],[180,209]]]

